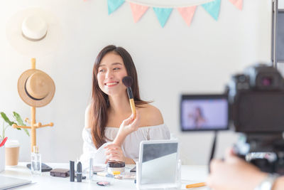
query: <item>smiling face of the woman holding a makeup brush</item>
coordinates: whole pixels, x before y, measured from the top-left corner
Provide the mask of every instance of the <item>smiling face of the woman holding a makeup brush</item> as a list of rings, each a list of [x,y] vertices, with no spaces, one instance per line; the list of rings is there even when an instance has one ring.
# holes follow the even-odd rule
[[[126,93],[126,86],[122,78],[127,76],[124,61],[114,52],[107,53],[99,63],[97,80],[99,88],[107,95],[121,95]]]

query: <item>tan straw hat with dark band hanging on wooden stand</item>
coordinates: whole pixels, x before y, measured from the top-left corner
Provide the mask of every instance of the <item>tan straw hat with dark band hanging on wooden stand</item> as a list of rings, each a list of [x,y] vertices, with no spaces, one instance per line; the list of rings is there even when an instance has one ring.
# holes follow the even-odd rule
[[[43,107],[53,100],[54,93],[53,79],[42,70],[26,70],[18,78],[18,94],[28,105]]]

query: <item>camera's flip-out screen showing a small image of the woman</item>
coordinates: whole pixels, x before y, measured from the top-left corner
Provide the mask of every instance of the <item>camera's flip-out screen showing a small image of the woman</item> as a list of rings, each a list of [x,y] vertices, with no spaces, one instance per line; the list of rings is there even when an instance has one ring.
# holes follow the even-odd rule
[[[182,95],[182,131],[228,130],[229,105],[226,95]]]

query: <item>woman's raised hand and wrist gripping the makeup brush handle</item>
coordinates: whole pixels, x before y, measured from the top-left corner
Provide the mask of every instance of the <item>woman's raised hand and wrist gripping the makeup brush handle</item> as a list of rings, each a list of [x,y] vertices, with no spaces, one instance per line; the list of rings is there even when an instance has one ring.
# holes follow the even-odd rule
[[[133,114],[126,120],[124,120],[120,127],[119,132],[116,134],[116,138],[114,139],[114,144],[118,145],[119,147],[124,142],[124,139],[127,135],[131,132],[138,130],[140,124],[139,112],[136,110],[136,118],[133,118]]]

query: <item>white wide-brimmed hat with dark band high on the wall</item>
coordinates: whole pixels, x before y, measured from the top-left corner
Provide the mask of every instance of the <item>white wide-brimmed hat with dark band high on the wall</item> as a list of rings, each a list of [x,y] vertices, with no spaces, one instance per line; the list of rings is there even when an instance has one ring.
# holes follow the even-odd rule
[[[23,9],[11,16],[6,36],[13,48],[31,57],[52,53],[62,38],[58,19],[39,7]]]

